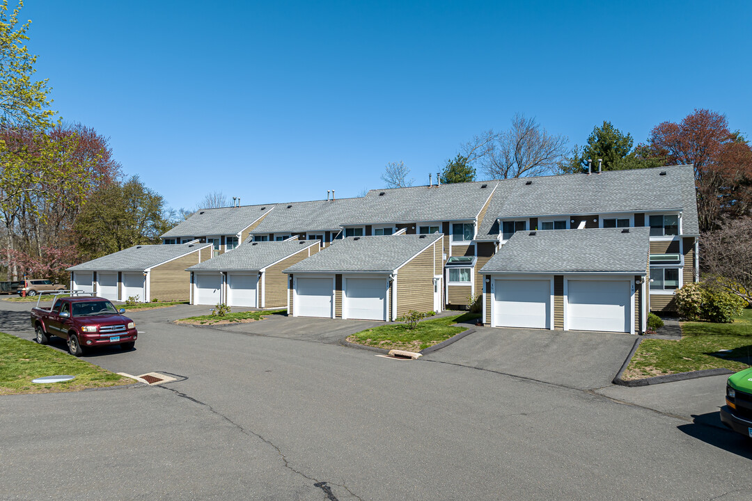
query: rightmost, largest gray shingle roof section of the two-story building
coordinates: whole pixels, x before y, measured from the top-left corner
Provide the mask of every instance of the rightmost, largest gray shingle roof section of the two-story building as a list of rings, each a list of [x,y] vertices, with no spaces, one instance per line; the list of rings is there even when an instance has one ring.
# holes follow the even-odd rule
[[[663,171],[665,176],[660,175]],[[506,190],[499,218],[677,209],[684,210],[684,233],[699,233],[692,165],[590,176],[526,177],[501,183],[511,187]]]

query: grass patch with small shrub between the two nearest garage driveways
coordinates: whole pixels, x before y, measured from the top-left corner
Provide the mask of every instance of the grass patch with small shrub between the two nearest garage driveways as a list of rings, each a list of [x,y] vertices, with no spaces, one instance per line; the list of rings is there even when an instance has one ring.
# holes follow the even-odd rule
[[[361,330],[347,337],[350,343],[365,346],[375,346],[384,349],[402,349],[409,352],[420,352],[429,346],[448,340],[469,325],[455,325],[457,322],[480,318],[477,313],[461,313],[434,320],[423,320],[413,330],[405,324],[380,325],[372,329]]]

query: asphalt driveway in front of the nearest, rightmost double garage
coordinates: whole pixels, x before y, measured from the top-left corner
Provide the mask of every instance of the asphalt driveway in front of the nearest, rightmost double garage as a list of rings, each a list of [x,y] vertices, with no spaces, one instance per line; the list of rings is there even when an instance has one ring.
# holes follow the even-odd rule
[[[562,330],[476,327],[421,360],[459,364],[571,388],[611,385],[635,336]]]

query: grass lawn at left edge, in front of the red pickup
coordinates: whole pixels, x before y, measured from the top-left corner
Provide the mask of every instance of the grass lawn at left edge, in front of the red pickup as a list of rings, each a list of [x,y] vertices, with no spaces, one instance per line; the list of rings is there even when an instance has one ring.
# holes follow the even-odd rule
[[[32,383],[38,377],[63,374],[76,379],[49,385]],[[50,346],[0,332],[0,395],[79,391],[133,382]]]

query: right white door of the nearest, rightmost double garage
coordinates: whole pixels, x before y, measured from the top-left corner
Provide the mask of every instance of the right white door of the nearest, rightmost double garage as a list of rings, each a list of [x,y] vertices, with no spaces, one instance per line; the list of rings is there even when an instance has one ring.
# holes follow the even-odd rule
[[[631,282],[569,280],[567,288],[568,329],[629,332]]]

